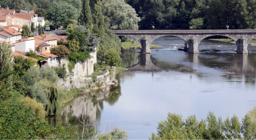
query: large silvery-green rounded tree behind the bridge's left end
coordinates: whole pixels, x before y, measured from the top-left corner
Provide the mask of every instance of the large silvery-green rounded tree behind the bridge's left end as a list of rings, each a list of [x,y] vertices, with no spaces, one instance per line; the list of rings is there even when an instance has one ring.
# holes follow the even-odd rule
[[[102,10],[107,27],[121,30],[137,30],[141,20],[132,6],[123,0],[102,0]]]

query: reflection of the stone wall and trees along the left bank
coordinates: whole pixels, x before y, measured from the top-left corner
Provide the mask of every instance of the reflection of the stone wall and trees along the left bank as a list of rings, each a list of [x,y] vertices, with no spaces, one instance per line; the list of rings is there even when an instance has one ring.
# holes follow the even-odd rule
[[[101,121],[101,112],[104,109],[103,102],[113,105],[120,95],[120,85],[107,86],[100,90],[92,91],[89,95],[79,96],[67,103],[56,116],[48,117],[48,122],[51,125],[65,125],[66,122],[70,122],[73,125],[80,126],[79,120],[82,120],[82,112],[84,111],[89,117],[88,123],[93,125],[95,122]]]

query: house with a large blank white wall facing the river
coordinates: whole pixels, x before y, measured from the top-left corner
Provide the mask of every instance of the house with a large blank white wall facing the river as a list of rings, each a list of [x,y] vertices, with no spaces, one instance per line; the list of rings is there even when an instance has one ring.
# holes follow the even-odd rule
[[[35,51],[35,39],[34,37],[22,37],[22,40],[13,43],[15,45],[15,51],[27,52],[29,50]]]

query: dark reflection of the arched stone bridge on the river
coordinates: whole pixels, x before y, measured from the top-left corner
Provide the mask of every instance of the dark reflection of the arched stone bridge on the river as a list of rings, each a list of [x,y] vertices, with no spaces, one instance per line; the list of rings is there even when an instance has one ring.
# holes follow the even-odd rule
[[[255,73],[256,68],[253,66],[248,59],[248,54],[237,55],[230,54],[225,57],[227,60],[218,61],[216,58],[222,57],[223,54],[216,53],[214,54],[213,59],[204,58],[207,53],[200,54],[188,54],[184,59],[180,60],[182,62],[190,62],[190,65],[178,64],[178,62],[174,64],[169,64],[166,62],[157,61],[154,57],[150,56],[150,54],[139,54],[139,62],[133,66],[128,67],[129,70],[138,70],[138,71],[161,71],[161,70],[176,70],[181,72],[195,72],[199,68],[198,66],[206,66],[209,68],[215,69],[215,64],[223,66],[223,69],[226,69],[227,72],[234,73]],[[213,55],[213,54],[211,54]],[[234,56],[235,55],[235,56]],[[251,56],[256,54],[250,54]],[[231,59],[231,60],[229,60]],[[227,64],[229,61],[231,63]]]

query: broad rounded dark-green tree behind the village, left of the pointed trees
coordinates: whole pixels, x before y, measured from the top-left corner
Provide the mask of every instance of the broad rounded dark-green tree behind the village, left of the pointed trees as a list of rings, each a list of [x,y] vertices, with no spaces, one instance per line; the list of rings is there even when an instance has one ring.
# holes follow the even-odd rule
[[[48,20],[54,23],[54,28],[67,28],[73,20],[77,20],[79,12],[72,4],[66,1],[54,1],[47,8]]]

